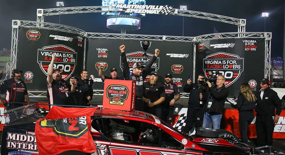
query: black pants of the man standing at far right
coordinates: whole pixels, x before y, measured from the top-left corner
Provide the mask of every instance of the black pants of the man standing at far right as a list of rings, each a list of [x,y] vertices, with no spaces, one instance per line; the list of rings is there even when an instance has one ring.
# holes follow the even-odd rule
[[[272,146],[272,136],[274,131],[274,123],[272,116],[257,114],[255,126],[258,146]]]

